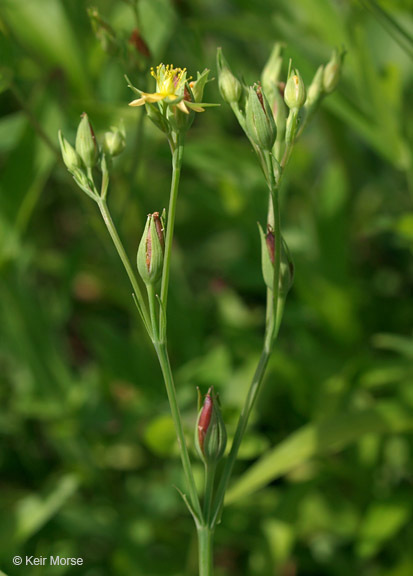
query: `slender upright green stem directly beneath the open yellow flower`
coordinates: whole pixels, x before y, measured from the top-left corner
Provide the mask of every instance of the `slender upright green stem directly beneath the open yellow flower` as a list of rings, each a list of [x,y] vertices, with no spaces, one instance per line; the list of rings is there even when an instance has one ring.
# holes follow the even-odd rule
[[[162,286],[161,286],[161,302],[165,314],[168,301],[169,271],[171,267],[171,252],[172,252],[172,240],[175,226],[176,202],[178,199],[179,180],[181,177],[182,158],[184,153],[183,136],[178,134],[176,138],[176,143],[170,142],[170,144],[172,149],[172,182],[171,182],[171,194],[169,198],[169,208],[167,214],[165,255],[164,255],[163,272],[162,272]],[[164,341],[166,338],[165,314],[161,314],[160,317],[160,335],[162,341]]]

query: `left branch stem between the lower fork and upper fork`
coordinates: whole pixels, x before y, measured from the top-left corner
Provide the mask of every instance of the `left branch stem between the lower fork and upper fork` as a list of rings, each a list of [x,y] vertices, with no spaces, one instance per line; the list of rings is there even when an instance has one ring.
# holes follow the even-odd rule
[[[192,473],[191,460],[189,458],[188,448],[186,446],[185,434],[182,426],[182,418],[176,398],[176,390],[172,376],[171,364],[169,362],[168,351],[165,342],[155,341],[154,347],[158,355],[159,364],[161,366],[162,375],[165,381],[166,393],[168,395],[172,419],[175,425],[175,432],[178,438],[182,466],[186,477],[191,505],[198,517],[199,522],[201,522],[203,520],[201,504],[199,502],[198,492]]]

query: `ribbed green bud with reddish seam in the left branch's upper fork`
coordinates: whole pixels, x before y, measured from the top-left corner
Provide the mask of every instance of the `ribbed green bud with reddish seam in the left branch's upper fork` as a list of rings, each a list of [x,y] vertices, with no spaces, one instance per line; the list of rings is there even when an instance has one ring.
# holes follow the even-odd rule
[[[163,219],[159,212],[148,214],[137,256],[138,272],[145,284],[157,284],[161,279],[164,251]]]

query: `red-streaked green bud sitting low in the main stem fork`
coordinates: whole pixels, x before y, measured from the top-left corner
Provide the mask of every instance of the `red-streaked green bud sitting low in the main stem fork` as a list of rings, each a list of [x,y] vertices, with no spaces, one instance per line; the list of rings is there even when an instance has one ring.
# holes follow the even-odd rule
[[[224,455],[227,432],[213,387],[208,390],[195,428],[195,447],[206,464],[217,464]]]

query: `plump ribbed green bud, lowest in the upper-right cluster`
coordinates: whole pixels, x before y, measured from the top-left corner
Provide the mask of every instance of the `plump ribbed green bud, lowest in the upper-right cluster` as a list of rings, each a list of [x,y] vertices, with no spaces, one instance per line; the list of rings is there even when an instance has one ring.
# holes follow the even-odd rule
[[[262,150],[270,151],[277,138],[271,106],[259,85],[250,87],[248,91],[246,132],[252,142]]]

